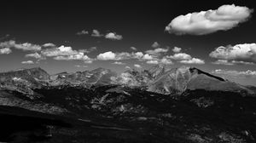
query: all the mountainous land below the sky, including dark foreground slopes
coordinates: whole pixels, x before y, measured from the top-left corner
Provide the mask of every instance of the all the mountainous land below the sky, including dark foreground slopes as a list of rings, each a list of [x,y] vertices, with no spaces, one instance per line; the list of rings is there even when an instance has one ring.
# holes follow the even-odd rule
[[[0,141],[255,142],[255,87],[195,67],[0,73]]]

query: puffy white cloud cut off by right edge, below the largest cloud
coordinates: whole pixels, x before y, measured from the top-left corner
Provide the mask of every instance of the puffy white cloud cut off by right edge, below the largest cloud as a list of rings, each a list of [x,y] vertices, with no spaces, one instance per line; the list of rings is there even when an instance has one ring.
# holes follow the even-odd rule
[[[235,46],[218,47],[210,54],[218,60],[235,60],[236,62],[256,63],[256,43],[236,44]]]

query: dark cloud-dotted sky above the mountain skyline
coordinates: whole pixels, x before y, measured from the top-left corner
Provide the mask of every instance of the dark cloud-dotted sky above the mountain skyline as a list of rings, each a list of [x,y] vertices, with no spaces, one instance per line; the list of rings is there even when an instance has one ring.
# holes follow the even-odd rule
[[[193,66],[256,86],[253,1],[3,3],[0,72]]]

